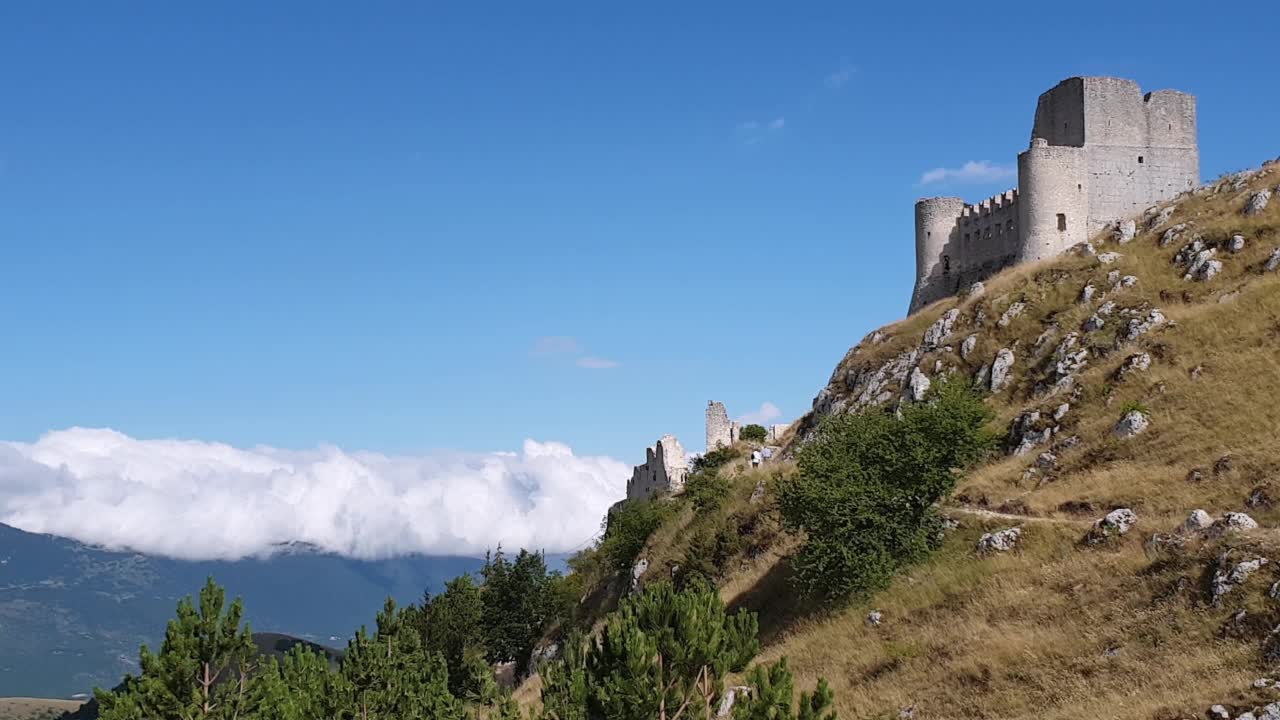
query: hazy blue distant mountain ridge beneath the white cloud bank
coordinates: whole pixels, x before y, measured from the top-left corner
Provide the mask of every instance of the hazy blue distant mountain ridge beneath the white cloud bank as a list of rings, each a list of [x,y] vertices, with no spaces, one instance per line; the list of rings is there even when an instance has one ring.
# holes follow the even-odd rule
[[[265,559],[184,561],[0,524],[0,696],[114,687],[137,670],[138,646],[159,644],[178,600],[209,575],[244,600],[255,630],[340,650],[372,624],[387,596],[416,602],[484,564],[425,555],[356,560],[287,544]]]

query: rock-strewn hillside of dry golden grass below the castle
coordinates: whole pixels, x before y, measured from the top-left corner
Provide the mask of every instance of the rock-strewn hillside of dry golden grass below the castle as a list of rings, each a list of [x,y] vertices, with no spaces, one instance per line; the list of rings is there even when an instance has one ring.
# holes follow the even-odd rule
[[[1277,182],[1275,164],[1224,178],[1169,204],[1171,214],[1138,218],[1129,242],[1106,233],[1096,254],[1014,268],[850,350],[819,395],[822,411],[852,409],[859,397],[899,402],[911,368],[987,377],[983,366],[1007,348],[1007,384],[987,397],[997,428],[1029,410],[1041,416],[1028,429],[1056,428],[1029,452],[1005,451],[972,471],[946,507],[956,527],[941,550],[890,589],[835,611],[796,598],[787,557],[797,538],[781,532],[771,503],[773,478],[794,471],[786,460],[760,470],[733,461],[721,473],[732,480],[718,507],[672,502],[641,553],[640,580],[713,560],[726,601],[760,614],[762,659],[787,656],[801,687],[827,678],[846,719],[910,707],[914,717],[947,719],[1202,717],[1213,703],[1280,700],[1254,687],[1272,676],[1267,638],[1280,624],[1280,601],[1267,596],[1280,578],[1280,270],[1265,269],[1280,246],[1280,199],[1243,213],[1254,191]],[[1239,251],[1234,234],[1244,237]],[[1217,247],[1221,272],[1208,281],[1184,279],[1188,268],[1175,263],[1196,236]],[[1100,259],[1107,252],[1120,258]],[[1094,293],[1082,301],[1087,284]],[[929,347],[925,331],[951,310],[950,333]],[[1087,324],[1096,314],[1101,328]],[[1059,373],[1082,348],[1083,366],[1068,360]],[[1142,354],[1147,369],[1121,372],[1142,365],[1132,360]],[[1149,428],[1115,437],[1134,410]],[[818,419],[805,418],[797,437]],[[1119,507],[1137,525],[1084,543],[1094,520]],[[1175,533],[1196,509],[1244,511],[1261,527]],[[983,533],[1011,527],[1021,528],[1014,551],[975,552]],[[1272,561],[1211,602],[1213,574],[1253,557]],[[872,610],[878,625],[867,620]]]

